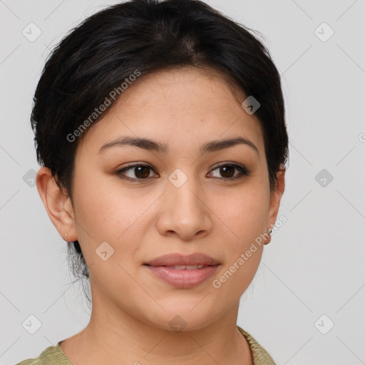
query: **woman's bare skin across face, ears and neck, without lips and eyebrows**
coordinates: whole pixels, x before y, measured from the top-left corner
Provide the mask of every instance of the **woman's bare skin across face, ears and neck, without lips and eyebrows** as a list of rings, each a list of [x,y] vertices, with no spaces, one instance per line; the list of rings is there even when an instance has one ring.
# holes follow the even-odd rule
[[[242,91],[237,89],[237,96],[212,69],[141,76],[80,140],[72,202],[47,168],[38,171],[38,192],[53,225],[63,238],[67,233],[68,241],[80,242],[90,270],[91,320],[62,343],[74,365],[253,364],[236,323],[240,297],[257,272],[263,245],[219,289],[212,280],[274,225],[284,170],[270,194],[262,127],[240,106],[246,98]],[[169,151],[114,146],[98,153],[125,135],[166,143]],[[237,136],[250,140],[258,153],[245,144],[199,152],[207,142]],[[216,167],[225,162],[251,173],[227,180],[241,174]],[[123,180],[116,171],[130,163],[153,169],[132,168],[124,176],[135,180]],[[168,180],[177,168],[187,177],[181,187]],[[114,249],[106,261],[96,255],[101,242]],[[173,252],[202,252],[221,265],[202,284],[177,289],[143,266]],[[183,331],[169,325],[176,315],[186,324]]]

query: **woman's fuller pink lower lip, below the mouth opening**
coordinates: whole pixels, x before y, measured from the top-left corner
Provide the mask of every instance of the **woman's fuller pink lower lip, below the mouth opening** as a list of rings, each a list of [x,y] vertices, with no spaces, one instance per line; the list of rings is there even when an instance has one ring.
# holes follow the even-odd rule
[[[219,265],[205,266],[202,267],[202,269],[195,270],[179,270],[165,266],[145,266],[148,267],[156,277],[163,279],[163,281],[173,285],[173,287],[187,289],[205,282],[205,280],[209,279],[215,273]]]

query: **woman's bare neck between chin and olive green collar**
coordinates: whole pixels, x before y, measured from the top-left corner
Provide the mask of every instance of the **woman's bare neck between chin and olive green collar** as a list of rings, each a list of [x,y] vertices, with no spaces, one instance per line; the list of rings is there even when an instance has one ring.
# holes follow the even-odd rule
[[[195,331],[168,331],[93,298],[88,326],[62,344],[73,364],[247,364],[250,347],[237,329],[239,302],[225,316]],[[123,359],[123,363],[120,362]]]

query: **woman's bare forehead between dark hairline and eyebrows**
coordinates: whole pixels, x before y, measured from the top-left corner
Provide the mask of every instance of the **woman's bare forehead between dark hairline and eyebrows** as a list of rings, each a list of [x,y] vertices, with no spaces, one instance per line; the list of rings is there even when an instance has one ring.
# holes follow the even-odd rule
[[[241,135],[262,149],[262,126],[242,108],[245,98],[235,83],[214,69],[164,69],[130,83],[82,143],[97,148],[111,138],[130,135],[183,146]]]

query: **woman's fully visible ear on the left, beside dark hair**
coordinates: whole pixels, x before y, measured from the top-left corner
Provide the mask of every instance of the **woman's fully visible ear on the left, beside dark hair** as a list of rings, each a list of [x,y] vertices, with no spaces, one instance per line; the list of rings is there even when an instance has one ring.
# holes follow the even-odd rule
[[[76,241],[78,237],[71,198],[58,187],[48,168],[42,167],[38,170],[36,184],[43,205],[58,233],[63,240]]]

